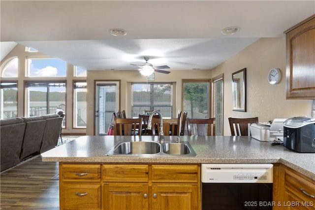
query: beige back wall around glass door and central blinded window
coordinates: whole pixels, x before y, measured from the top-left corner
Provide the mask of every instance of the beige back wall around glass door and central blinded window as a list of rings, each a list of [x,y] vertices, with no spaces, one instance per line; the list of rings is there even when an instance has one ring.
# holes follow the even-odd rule
[[[170,70],[171,73],[156,73],[155,81],[152,82],[175,82],[175,104],[174,110],[182,109],[182,79],[210,79],[210,70]],[[126,110],[127,117],[131,116],[130,110],[130,82],[146,82],[146,77],[141,76],[140,72],[119,71],[119,70],[92,70],[88,71],[88,119],[87,135],[94,135],[94,111],[95,111],[95,80],[121,80],[121,107],[120,110]],[[174,113],[176,114],[177,111]]]

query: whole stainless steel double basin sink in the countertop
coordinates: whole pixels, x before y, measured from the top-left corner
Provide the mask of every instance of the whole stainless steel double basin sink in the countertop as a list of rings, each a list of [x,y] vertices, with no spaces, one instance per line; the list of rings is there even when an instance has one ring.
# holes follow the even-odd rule
[[[188,141],[162,144],[156,141],[119,142],[106,155],[197,156]]]

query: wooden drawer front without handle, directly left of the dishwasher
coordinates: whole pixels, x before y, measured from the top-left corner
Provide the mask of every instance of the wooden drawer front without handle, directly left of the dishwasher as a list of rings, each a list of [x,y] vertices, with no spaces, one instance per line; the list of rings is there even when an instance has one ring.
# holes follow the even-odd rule
[[[198,166],[152,165],[152,182],[198,182]]]

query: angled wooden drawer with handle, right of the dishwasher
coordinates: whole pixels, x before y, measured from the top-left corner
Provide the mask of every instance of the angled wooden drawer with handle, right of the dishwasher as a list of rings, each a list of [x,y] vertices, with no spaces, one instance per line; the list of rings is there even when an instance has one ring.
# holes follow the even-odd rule
[[[312,201],[315,205],[315,198],[305,194],[308,193],[315,196],[314,181],[288,168],[284,172],[285,192],[291,194],[297,200]]]

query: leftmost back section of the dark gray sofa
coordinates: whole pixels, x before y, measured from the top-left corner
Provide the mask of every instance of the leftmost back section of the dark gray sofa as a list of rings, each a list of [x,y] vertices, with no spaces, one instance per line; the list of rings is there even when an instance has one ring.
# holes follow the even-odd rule
[[[20,163],[20,154],[25,131],[22,118],[15,117],[0,121],[1,171]]]

